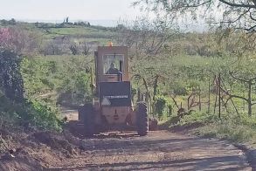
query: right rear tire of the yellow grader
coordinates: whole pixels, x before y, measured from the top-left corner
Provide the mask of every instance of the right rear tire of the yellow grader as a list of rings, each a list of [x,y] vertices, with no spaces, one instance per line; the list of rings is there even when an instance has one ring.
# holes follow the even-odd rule
[[[148,108],[145,103],[140,102],[137,104],[136,125],[140,136],[145,136],[149,133]]]

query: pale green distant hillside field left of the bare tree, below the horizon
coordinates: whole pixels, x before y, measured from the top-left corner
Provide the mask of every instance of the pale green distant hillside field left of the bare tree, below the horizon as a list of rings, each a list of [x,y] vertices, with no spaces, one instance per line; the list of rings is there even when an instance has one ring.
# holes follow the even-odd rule
[[[106,45],[108,42],[115,43],[115,37],[117,35],[114,32],[114,28],[107,28],[101,26],[75,26],[58,28],[54,24],[48,24],[48,27],[37,27],[35,24],[19,23],[17,25],[10,25],[10,27],[19,27],[24,31],[29,31],[33,38],[37,38],[40,41],[48,44],[54,38],[68,37],[71,42],[95,42],[99,45]],[[0,24],[0,28],[3,28]]]

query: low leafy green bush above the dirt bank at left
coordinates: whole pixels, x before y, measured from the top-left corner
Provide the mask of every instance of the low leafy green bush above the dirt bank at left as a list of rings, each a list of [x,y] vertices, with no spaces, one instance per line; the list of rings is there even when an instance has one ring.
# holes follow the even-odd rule
[[[61,130],[59,108],[36,99],[26,99],[24,103],[13,103],[0,96],[0,121],[8,120],[9,124],[22,126],[29,130]],[[1,115],[0,114],[0,115]]]

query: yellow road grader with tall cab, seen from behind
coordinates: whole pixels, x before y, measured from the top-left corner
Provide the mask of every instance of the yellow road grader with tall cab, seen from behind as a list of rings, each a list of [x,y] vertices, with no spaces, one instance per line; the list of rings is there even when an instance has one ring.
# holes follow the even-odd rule
[[[91,77],[93,101],[79,109],[85,135],[123,129],[135,129],[140,136],[147,135],[147,105],[145,102],[138,102],[135,106],[132,103],[128,47],[99,46],[94,52],[94,61],[95,74]],[[116,68],[113,69],[114,66]],[[111,68],[112,72],[109,72]]]

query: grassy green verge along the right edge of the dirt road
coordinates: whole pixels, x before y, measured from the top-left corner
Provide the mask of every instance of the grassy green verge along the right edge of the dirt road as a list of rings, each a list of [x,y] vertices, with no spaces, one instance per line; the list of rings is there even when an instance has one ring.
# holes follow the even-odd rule
[[[163,123],[170,129],[175,127],[191,128],[190,132],[202,137],[212,137],[232,142],[246,143],[256,147],[256,117],[249,118],[245,113],[240,118],[237,115],[222,115],[218,119],[218,114],[212,113],[192,113],[183,119],[174,122],[175,117]]]

